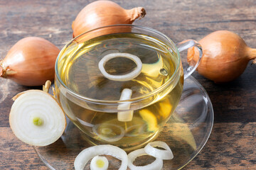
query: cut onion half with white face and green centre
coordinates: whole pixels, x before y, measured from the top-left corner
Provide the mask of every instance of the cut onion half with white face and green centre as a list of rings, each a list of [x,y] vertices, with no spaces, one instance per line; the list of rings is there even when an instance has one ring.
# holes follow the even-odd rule
[[[48,89],[24,91],[13,99],[9,123],[19,140],[46,146],[60,138],[65,130],[65,114]]]

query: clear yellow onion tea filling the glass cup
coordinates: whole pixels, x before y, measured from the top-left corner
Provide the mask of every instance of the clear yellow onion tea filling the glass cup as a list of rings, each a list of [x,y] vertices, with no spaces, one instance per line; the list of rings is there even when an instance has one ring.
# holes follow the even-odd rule
[[[142,60],[142,72],[129,81],[112,81],[105,78],[98,62],[107,54],[125,52]],[[58,73],[68,89],[86,98],[102,101],[118,101],[123,89],[132,89],[132,98],[146,96],[132,103],[132,121],[117,119],[117,105],[91,103],[75,98],[60,89],[55,81],[58,101],[66,115],[89,136],[95,144],[109,143],[124,149],[144,145],[158,135],[171,113],[178,105],[183,89],[182,69],[176,70],[177,54],[156,38],[142,34],[119,33],[103,35],[87,42],[73,42],[62,52],[58,60]],[[127,58],[117,57],[105,64],[109,74],[122,75],[131,72],[136,64]],[[169,83],[169,79],[174,77]],[[164,90],[161,86],[168,84]]]

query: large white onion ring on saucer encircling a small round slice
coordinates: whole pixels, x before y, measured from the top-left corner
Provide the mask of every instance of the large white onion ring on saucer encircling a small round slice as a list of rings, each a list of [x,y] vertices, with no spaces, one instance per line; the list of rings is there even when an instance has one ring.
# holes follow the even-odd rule
[[[80,154],[75,158],[74,166],[75,170],[82,170],[85,168],[87,162],[97,155],[110,155],[122,161],[119,170],[127,170],[128,157],[127,153],[119,147],[112,145],[97,145],[94,147],[88,147],[83,149]]]

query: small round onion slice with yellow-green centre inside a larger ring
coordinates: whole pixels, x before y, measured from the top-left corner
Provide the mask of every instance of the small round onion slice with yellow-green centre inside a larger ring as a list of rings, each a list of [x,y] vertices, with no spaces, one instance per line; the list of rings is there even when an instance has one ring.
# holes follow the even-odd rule
[[[92,158],[92,161],[90,163],[90,169],[91,170],[107,170],[108,165],[109,163],[106,157],[95,156]]]

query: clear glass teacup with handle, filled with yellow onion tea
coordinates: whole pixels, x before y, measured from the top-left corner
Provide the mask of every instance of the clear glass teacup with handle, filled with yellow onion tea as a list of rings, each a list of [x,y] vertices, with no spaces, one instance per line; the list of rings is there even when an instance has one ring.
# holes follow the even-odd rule
[[[179,52],[196,47],[183,68]],[[95,145],[135,149],[153,140],[198,66],[194,40],[177,46],[152,28],[115,25],[68,42],[55,64],[55,91],[68,118]]]

